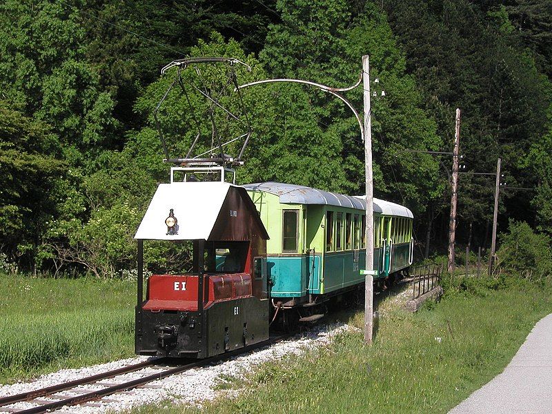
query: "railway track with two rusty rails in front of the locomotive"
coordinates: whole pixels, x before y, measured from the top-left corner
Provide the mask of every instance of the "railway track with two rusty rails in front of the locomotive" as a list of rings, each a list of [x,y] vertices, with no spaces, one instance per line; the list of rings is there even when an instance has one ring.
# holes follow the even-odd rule
[[[17,395],[0,397],[0,413],[50,413],[64,406],[75,406],[78,404],[89,403],[95,400],[100,400],[101,398],[107,397],[108,395],[112,395],[122,391],[129,391],[132,390],[132,388],[144,386],[145,384],[148,384],[148,382],[162,380],[163,378],[169,377],[170,375],[183,373],[184,371],[212,364],[213,362],[223,362],[227,359],[230,359],[231,357],[235,357],[236,355],[241,355],[243,353],[254,351],[257,348],[276,344],[277,342],[281,342],[284,339],[288,339],[292,335],[294,334],[289,333],[286,335],[280,335],[278,337],[270,338],[264,342],[259,342],[258,344],[246,346],[245,348],[240,348],[236,351],[225,353],[224,355],[217,355],[215,357],[187,362],[179,366],[166,366],[166,369],[164,367],[164,364],[170,362],[170,359],[150,359],[145,362],[140,362],[139,364],[124,366],[115,370],[106,371],[105,373],[92,375],[90,377],[84,377],[79,380],[63,382],[54,386],[48,386],[45,388],[40,388],[38,390],[28,391],[26,393],[21,393]],[[120,384],[106,384],[101,382],[102,380],[114,378],[118,375],[134,373],[152,367],[158,368],[159,372],[146,374],[134,380],[121,382]],[[78,388],[82,386],[101,386],[101,388],[95,390]],[[67,391],[68,393],[73,393],[76,395],[56,395],[61,391]],[[46,397],[50,400],[41,400],[41,397]],[[17,404],[20,402],[28,402],[30,404],[34,404],[35,406],[29,408],[11,406],[12,404]]]

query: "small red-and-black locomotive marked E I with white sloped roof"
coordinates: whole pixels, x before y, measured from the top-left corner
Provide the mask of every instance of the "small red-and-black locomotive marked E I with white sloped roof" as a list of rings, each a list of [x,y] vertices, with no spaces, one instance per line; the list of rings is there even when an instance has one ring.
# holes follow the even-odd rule
[[[205,358],[268,339],[268,234],[246,190],[225,181],[159,184],[135,235],[139,355]],[[195,168],[197,174],[198,169]],[[144,241],[193,245],[190,272],[152,275],[143,293]]]

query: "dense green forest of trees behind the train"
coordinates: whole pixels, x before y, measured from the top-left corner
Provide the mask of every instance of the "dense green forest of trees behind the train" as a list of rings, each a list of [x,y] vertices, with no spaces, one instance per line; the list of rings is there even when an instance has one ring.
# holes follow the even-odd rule
[[[456,108],[458,242],[490,245],[495,177],[470,172],[494,172],[497,157],[499,231],[515,220],[551,233],[549,0],[4,0],[0,10],[4,270],[110,277],[135,267],[132,236],[168,180],[152,119],[172,81],[160,69],[188,56],[248,63],[240,83],[343,88],[369,55],[375,195],[413,210],[420,257],[446,248],[452,159],[427,151],[452,150]],[[239,183],[364,194],[363,145],[342,102],[300,85],[243,93],[254,133]],[[361,88],[345,95],[362,110]],[[201,117],[204,103],[192,103]],[[175,95],[161,114],[184,143],[189,112]],[[166,252],[152,245],[146,256]]]

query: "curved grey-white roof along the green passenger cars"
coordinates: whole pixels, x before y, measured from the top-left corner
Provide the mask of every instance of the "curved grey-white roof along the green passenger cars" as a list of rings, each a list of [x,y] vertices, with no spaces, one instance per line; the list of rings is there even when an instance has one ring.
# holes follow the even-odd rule
[[[366,196],[351,196],[338,193],[330,193],[317,188],[296,186],[275,182],[244,184],[242,187],[250,191],[264,191],[279,196],[282,204],[326,204],[328,206],[341,206],[366,210]],[[382,215],[394,215],[413,218],[411,210],[391,201],[374,198],[374,213]]]

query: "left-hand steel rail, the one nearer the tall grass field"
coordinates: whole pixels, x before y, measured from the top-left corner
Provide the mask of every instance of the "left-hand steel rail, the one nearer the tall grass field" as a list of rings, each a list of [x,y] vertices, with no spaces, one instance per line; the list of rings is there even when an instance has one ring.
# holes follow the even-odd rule
[[[15,402],[32,400],[37,397],[46,397],[46,395],[58,393],[59,391],[65,391],[70,388],[75,388],[75,386],[90,384],[90,382],[96,382],[99,380],[105,380],[106,378],[116,377],[117,375],[132,373],[148,366],[158,364],[164,360],[164,358],[149,359],[148,361],[139,362],[138,364],[124,366],[122,368],[117,368],[112,371],[106,371],[105,373],[91,375],[90,377],[79,378],[79,380],[72,380],[69,382],[63,382],[62,384],[47,386],[45,388],[40,388],[34,391],[28,391],[26,393],[8,395],[8,397],[0,398],[0,411],[2,407],[8,404],[14,404]]]

